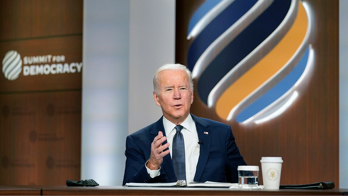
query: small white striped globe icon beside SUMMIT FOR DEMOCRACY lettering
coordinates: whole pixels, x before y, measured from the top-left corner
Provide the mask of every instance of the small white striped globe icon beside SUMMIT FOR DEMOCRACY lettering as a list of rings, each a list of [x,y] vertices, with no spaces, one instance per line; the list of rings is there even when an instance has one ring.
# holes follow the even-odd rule
[[[8,80],[15,80],[22,71],[21,55],[14,50],[5,54],[2,60],[2,73]]]

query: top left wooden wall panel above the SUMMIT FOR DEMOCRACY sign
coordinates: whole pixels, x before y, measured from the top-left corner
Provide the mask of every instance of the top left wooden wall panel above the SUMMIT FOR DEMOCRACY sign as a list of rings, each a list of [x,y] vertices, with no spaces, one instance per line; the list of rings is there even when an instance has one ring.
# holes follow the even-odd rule
[[[2,0],[0,40],[82,33],[82,0]]]

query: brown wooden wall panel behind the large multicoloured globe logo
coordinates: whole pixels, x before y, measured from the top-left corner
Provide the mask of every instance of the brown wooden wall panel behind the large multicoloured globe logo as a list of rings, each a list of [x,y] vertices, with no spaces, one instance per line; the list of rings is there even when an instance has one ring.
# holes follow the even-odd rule
[[[187,26],[203,1],[177,0],[176,62],[185,64],[190,46]],[[263,156],[283,157],[281,184],[334,181],[339,186],[339,3],[304,0],[314,15],[310,36],[315,50],[311,77],[301,84],[295,103],[275,119],[241,125],[220,119],[194,91],[191,112],[231,125],[236,143],[248,165],[259,165]],[[195,80],[195,85],[197,81]],[[238,93],[238,92],[236,92]],[[260,173],[260,184],[262,175]]]

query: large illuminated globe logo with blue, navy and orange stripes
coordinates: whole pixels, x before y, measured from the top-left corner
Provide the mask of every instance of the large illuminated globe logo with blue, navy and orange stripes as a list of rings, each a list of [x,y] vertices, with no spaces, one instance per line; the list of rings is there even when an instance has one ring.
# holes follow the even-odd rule
[[[200,100],[241,124],[282,114],[315,65],[312,23],[301,0],[205,1],[187,32],[187,65]]]

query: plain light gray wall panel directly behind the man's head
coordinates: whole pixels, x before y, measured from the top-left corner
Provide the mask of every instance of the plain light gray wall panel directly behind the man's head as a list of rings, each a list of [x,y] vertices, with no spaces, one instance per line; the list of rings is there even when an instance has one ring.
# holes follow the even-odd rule
[[[175,0],[130,0],[129,122],[133,133],[157,121],[152,77],[156,69],[175,61]]]

